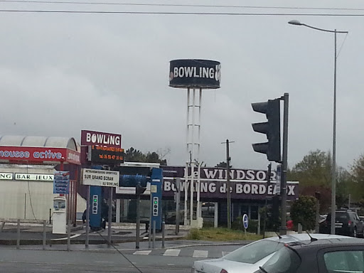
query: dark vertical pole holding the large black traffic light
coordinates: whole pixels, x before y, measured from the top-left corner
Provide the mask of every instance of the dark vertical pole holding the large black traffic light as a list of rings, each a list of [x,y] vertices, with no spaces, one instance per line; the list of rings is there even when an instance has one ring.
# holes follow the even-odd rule
[[[281,97],[284,101],[284,110],[283,110],[283,156],[282,156],[282,187],[281,187],[281,195],[282,195],[282,216],[281,216],[281,228],[279,228],[279,234],[285,235],[287,234],[287,163],[288,163],[288,102],[289,102],[289,94],[284,93],[284,96]]]

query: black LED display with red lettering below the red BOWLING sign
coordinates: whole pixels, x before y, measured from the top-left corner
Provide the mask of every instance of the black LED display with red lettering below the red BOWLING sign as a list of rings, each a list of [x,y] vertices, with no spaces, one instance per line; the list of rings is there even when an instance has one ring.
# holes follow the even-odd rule
[[[87,159],[101,164],[124,163],[124,149],[117,147],[89,146]]]

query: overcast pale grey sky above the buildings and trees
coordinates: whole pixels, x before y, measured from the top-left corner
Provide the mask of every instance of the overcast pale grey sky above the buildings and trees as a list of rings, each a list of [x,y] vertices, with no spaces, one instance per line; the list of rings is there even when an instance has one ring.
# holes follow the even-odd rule
[[[81,129],[112,132],[122,134],[126,149],[170,149],[168,164],[183,165],[187,92],[168,87],[169,61],[210,59],[221,62],[221,88],[203,91],[200,161],[225,161],[221,142],[229,139],[234,167],[266,168],[266,157],[251,146],[264,141],[251,124],[265,117],[250,104],[288,92],[294,166],[309,151],[331,150],[333,135],[334,36],[287,23],[297,19],[349,31],[338,35],[338,165],[349,168],[364,153],[364,16],[304,15],[364,15],[362,0],[105,2],[266,8],[0,1],[0,9],[280,15],[1,12],[0,134],[80,141]],[[288,7],[311,9],[282,9]]]

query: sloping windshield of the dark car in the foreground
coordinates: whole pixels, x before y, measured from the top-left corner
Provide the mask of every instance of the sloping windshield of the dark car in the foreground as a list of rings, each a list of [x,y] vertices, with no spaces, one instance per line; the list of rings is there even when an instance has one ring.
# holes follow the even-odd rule
[[[288,247],[282,247],[262,266],[263,272],[294,273],[301,264],[301,258]]]

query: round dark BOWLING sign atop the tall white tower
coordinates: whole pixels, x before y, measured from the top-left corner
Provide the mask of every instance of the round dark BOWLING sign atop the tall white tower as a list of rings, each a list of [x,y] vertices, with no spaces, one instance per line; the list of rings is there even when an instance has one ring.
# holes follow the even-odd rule
[[[220,88],[220,62],[216,60],[171,60],[169,86],[178,88]]]

